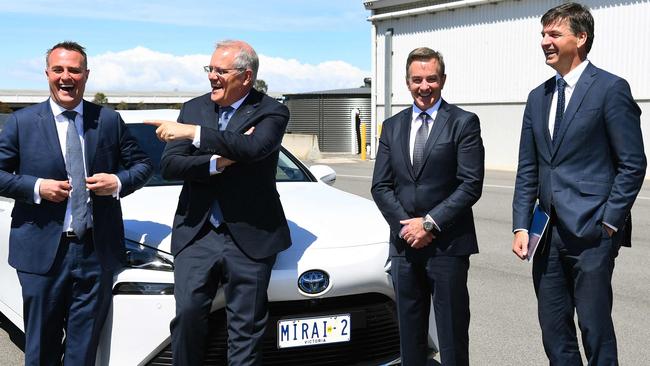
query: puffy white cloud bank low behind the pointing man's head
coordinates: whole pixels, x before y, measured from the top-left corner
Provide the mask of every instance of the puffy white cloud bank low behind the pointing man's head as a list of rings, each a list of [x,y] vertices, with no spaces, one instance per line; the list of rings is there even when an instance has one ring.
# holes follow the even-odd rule
[[[270,92],[301,92],[354,88],[363,84],[369,71],[344,61],[302,63],[260,55],[258,78]],[[89,56],[87,90],[97,91],[207,91],[203,66],[210,55],[176,56],[145,47]],[[42,72],[42,71],[41,71]]]

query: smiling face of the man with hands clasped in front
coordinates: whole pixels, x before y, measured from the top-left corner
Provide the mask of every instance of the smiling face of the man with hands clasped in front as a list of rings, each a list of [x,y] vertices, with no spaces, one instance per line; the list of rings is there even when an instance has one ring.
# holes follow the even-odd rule
[[[440,99],[446,78],[435,58],[414,60],[408,68],[406,86],[415,105],[423,111],[433,107]]]

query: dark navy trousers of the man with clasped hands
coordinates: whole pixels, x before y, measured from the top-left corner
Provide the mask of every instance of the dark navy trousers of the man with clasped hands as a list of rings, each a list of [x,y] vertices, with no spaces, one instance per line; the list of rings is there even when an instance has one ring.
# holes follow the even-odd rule
[[[443,366],[469,365],[469,256],[391,257],[403,366],[425,366],[431,299]]]

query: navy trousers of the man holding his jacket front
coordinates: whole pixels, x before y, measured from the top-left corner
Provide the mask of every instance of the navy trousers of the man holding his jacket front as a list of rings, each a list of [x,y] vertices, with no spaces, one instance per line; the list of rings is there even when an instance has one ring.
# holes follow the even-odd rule
[[[25,365],[60,365],[63,358],[66,366],[94,365],[111,304],[113,273],[102,270],[92,239],[62,238],[48,273],[18,271],[18,279]]]

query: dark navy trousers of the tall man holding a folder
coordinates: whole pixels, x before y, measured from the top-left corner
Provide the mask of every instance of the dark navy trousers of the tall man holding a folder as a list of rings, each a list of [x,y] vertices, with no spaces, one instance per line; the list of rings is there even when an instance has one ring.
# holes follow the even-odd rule
[[[612,323],[612,272],[618,246],[605,230],[585,243],[558,226],[533,263],[544,350],[551,365],[582,365],[574,311],[589,365],[618,365]]]

